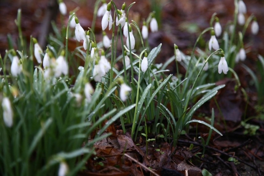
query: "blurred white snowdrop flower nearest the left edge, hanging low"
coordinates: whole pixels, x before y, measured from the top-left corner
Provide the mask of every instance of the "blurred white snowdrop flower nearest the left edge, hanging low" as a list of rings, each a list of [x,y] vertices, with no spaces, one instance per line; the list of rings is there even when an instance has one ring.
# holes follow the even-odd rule
[[[13,110],[10,100],[7,97],[3,98],[2,108],[4,122],[7,127],[11,127],[13,125]]]

